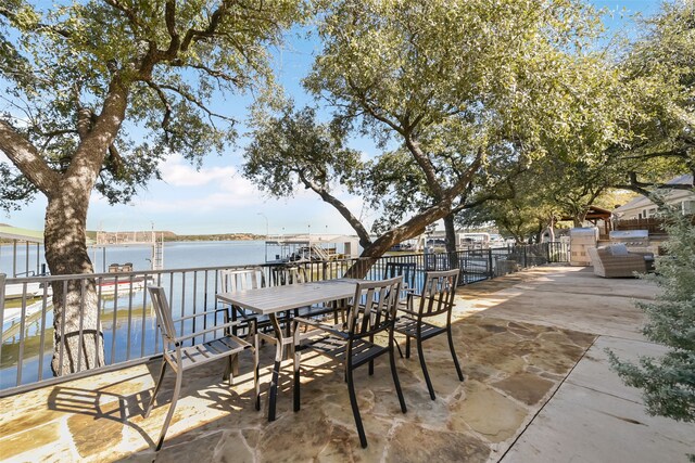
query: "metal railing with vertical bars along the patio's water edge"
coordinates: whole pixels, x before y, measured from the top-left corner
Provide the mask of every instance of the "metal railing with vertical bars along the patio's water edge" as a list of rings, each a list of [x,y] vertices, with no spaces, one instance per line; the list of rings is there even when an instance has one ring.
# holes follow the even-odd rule
[[[388,262],[416,263],[416,287],[421,287],[425,272],[431,270],[462,270],[460,285],[491,279],[522,268],[546,262],[569,261],[569,249],[560,243],[509,246],[490,249],[469,249],[452,254],[401,254],[379,258],[369,269],[366,279],[383,278]],[[306,269],[311,281],[343,276],[350,268],[361,265],[361,259],[344,259],[320,262],[294,262]],[[273,268],[280,265],[260,266],[271,282]],[[115,370],[128,364],[146,362],[161,355],[161,343],[156,320],[149,294],[150,285],[165,287],[175,317],[189,316],[216,307],[215,295],[219,291],[219,271],[249,266],[205,267],[159,271],[134,271],[118,273],[94,273],[88,275],[28,276],[5,279],[0,274],[0,397],[28,390],[41,385],[58,383],[65,378],[91,375],[100,371]],[[63,339],[65,320],[54,323],[53,284],[68,284],[85,291],[93,279],[97,293],[97,325],[101,326],[104,347],[104,366],[67,373],[51,370],[54,339]],[[83,293],[84,294],[84,293]],[[181,325],[181,334],[197,330],[195,320]],[[207,323],[208,320],[199,320]],[[55,333],[54,325],[58,326]],[[83,321],[79,320],[79,345],[83,343]],[[59,346],[63,346],[59,343]],[[59,349],[60,360],[65,352]],[[81,359],[77,359],[80,364]],[[62,364],[62,362],[58,362]],[[79,368],[78,368],[79,370]]]

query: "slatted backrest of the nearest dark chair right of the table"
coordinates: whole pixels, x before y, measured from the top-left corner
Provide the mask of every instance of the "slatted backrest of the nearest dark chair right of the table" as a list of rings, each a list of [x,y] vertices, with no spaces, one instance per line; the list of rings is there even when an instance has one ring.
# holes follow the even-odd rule
[[[351,340],[393,326],[402,284],[403,276],[357,283],[346,319]]]

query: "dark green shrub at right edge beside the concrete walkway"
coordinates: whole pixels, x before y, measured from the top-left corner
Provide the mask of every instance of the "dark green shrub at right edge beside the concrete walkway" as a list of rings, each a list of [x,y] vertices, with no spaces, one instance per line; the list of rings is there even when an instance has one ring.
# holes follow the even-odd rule
[[[669,350],[658,359],[641,357],[639,364],[611,364],[626,384],[643,390],[647,411],[678,421],[695,422],[695,226],[675,210],[665,215],[667,254],[656,258],[654,281],[660,293],[636,305],[646,313],[644,335]]]

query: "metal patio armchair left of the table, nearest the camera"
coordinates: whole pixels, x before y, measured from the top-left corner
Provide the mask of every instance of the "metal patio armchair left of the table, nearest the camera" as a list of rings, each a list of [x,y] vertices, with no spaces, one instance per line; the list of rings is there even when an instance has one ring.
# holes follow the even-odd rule
[[[162,333],[164,352],[162,355],[162,370],[160,372],[160,377],[154,386],[154,391],[152,393],[150,403],[144,411],[146,419],[150,415],[150,412],[154,407],[154,400],[156,399],[156,395],[160,391],[160,387],[162,386],[162,380],[164,378],[164,373],[166,372],[166,365],[170,365],[176,373],[176,386],[174,386],[172,404],[169,406],[169,410],[166,413],[166,417],[164,419],[164,425],[162,426],[162,432],[160,433],[160,438],[156,443],[156,450],[159,451],[162,448],[164,437],[166,436],[169,423],[172,422],[172,416],[174,416],[176,402],[178,401],[178,396],[181,391],[184,372],[192,368],[204,365],[212,361],[226,358],[228,360],[228,363],[225,368],[223,380],[228,378],[229,383],[232,384],[232,360],[236,359],[240,352],[250,349],[253,352],[253,386],[255,388],[256,395],[255,408],[256,410],[261,410],[258,388],[258,349],[257,344],[255,343],[255,323],[252,322],[250,327],[250,338],[254,339],[254,343],[250,344],[249,342],[237,336],[232,336],[229,333],[229,327],[235,326],[238,322],[225,322],[222,324],[217,324],[217,312],[219,310],[208,310],[192,316],[181,317],[179,319],[173,319],[172,309],[166,299],[164,288],[160,286],[150,286],[148,287],[148,290],[150,292],[152,305],[154,306],[154,310],[156,312],[157,326],[160,327],[160,332]],[[208,317],[211,314],[213,316],[212,321],[208,320]],[[203,323],[202,321],[200,323],[200,325],[206,327],[187,335],[180,335],[179,333],[177,333],[176,324],[180,323],[180,325],[184,325],[185,322],[192,321],[197,318],[207,320],[207,323]],[[193,326],[195,326],[195,324],[193,324]],[[215,337],[218,334],[222,334],[222,336]],[[206,338],[210,336],[213,336],[213,338],[211,340],[206,340]],[[202,343],[195,344],[197,340],[201,339]],[[185,344],[188,343],[190,343],[190,345],[185,346]]]

